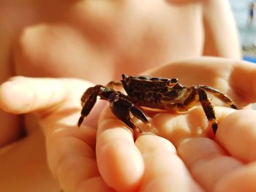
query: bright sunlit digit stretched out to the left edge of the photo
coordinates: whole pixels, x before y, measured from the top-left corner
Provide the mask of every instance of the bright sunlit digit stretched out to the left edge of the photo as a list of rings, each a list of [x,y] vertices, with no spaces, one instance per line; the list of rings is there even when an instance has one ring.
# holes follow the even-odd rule
[[[42,110],[49,112],[52,107],[76,95],[78,102],[72,104],[74,108],[80,108],[79,97],[88,84],[72,79],[14,77],[0,87],[0,107],[18,114]],[[70,88],[76,90],[75,93]]]

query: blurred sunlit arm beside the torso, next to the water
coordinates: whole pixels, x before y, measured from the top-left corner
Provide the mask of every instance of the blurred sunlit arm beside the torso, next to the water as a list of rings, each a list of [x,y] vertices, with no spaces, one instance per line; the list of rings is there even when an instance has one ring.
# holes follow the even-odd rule
[[[203,54],[241,58],[240,40],[227,0],[208,0],[203,7],[205,45]]]

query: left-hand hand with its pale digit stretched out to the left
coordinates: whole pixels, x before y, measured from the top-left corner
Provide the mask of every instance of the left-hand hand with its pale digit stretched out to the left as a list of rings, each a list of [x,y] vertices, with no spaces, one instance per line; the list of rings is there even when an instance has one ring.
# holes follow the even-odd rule
[[[64,191],[112,191],[99,175],[95,157],[97,116],[102,104],[80,128],[80,96],[91,86],[73,79],[15,77],[0,86],[0,108],[33,112],[45,133],[48,164]]]

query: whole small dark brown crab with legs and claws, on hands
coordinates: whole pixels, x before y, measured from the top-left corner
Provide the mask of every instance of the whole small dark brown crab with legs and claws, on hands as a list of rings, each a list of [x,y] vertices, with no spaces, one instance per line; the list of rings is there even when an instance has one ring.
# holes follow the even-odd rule
[[[122,74],[121,77],[121,82],[110,82],[106,86],[95,85],[83,93],[81,98],[83,109],[78,120],[78,126],[89,115],[98,96],[100,99],[109,101],[110,109],[118,119],[140,132],[142,131],[135,125],[132,115],[146,123],[147,126],[151,126],[140,107],[181,113],[187,112],[200,103],[214,134],[217,132],[218,124],[214,105],[211,103],[207,92],[212,93],[233,109],[237,109],[227,95],[206,85],[194,85],[188,88],[178,83],[178,78],[129,76],[127,74]],[[127,95],[116,91],[113,88],[116,85],[122,86]]]

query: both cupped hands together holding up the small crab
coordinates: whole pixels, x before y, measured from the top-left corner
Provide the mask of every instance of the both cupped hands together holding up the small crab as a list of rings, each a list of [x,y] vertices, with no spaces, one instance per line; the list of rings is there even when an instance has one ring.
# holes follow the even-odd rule
[[[252,64],[200,58],[148,74],[170,77],[174,70],[184,84],[219,88],[239,107],[255,101],[256,67]],[[151,131],[166,139],[145,134],[134,142],[132,131],[108,107],[102,112],[98,130],[89,119],[95,118],[100,106],[80,129],[76,127],[79,98],[88,86],[80,80],[17,78],[0,89],[1,108],[37,114],[47,140],[50,169],[65,191],[89,187],[112,191],[108,185],[117,191],[255,191],[254,111],[217,107],[216,140],[207,137],[211,128],[207,128],[200,107],[184,115],[150,114],[157,128]]]

